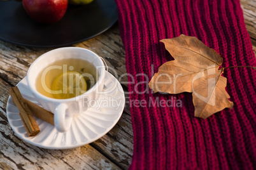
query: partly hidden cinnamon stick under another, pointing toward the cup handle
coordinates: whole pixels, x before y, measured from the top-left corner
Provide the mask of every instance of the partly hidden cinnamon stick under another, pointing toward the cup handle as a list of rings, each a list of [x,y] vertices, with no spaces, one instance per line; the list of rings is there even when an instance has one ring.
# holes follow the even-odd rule
[[[33,115],[38,117],[39,119],[42,119],[43,121],[46,121],[52,125],[54,125],[54,116],[52,112],[49,112],[48,110],[45,110],[42,107],[39,107],[35,103],[32,103],[31,101],[25,99],[25,102],[27,103],[27,106],[30,108]]]

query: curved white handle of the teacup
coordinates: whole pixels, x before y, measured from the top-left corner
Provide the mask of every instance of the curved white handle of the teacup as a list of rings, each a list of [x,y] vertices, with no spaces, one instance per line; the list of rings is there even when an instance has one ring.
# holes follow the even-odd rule
[[[54,125],[57,131],[66,132],[71,127],[72,116],[69,120],[66,119],[66,111],[68,110],[68,105],[65,103],[60,103],[57,105],[54,112]]]

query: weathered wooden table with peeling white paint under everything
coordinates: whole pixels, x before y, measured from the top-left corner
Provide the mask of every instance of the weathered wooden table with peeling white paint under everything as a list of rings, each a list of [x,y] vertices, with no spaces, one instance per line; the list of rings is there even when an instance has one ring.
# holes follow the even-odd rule
[[[241,0],[246,29],[256,53],[256,1]],[[91,49],[115,68],[118,76],[125,74],[125,51],[118,23],[103,34],[73,44]],[[132,122],[129,105],[117,125],[97,141],[68,150],[48,150],[20,140],[11,130],[6,117],[8,89],[27,74],[31,63],[53,48],[29,48],[0,41],[0,169],[128,169],[132,161]],[[127,81],[123,77],[122,81]],[[127,91],[127,84],[122,84]],[[128,98],[126,96],[126,100]]]

